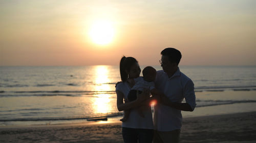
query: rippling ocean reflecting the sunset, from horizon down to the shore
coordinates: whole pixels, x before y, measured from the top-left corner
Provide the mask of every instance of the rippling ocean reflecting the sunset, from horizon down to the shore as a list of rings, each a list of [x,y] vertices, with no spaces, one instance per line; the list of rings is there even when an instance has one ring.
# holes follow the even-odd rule
[[[161,70],[160,66],[153,67]],[[193,80],[196,96],[200,94],[196,108],[256,102],[255,95],[220,94],[255,91],[256,66],[179,68]],[[118,81],[119,66],[2,66],[0,126],[81,123],[95,117],[119,119]],[[221,96],[207,97],[212,92]]]

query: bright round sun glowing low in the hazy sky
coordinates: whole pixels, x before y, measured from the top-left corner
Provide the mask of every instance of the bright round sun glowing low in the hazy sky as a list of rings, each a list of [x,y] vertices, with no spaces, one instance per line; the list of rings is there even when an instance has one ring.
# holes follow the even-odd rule
[[[106,45],[113,41],[114,27],[110,21],[97,21],[90,28],[90,38],[98,45]]]

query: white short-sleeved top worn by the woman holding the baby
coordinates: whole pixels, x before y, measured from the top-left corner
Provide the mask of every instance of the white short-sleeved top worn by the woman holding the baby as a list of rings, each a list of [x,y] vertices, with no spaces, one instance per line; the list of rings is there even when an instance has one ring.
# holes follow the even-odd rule
[[[127,82],[117,84],[116,91],[123,93],[123,98],[127,98],[131,87]],[[148,110],[143,112],[145,118],[141,117],[136,109],[131,109],[131,113],[126,122],[122,123],[122,127],[136,129],[154,129],[151,107],[148,105]]]

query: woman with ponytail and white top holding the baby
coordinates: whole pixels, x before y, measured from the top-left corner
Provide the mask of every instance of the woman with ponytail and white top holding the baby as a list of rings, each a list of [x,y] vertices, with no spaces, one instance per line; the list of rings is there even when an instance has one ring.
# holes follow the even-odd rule
[[[119,111],[131,109],[129,118],[126,122],[122,123],[122,136],[124,142],[152,142],[154,135],[151,108],[149,107],[147,111],[143,112],[144,118],[133,109],[141,104],[149,92],[144,91],[135,101],[123,103],[123,100],[127,99],[129,91],[132,88],[132,84],[127,82],[127,79],[139,77],[140,72],[141,70],[136,59],[132,57],[126,58],[125,56],[122,57],[120,61],[120,75],[122,82],[116,86],[117,108]]]

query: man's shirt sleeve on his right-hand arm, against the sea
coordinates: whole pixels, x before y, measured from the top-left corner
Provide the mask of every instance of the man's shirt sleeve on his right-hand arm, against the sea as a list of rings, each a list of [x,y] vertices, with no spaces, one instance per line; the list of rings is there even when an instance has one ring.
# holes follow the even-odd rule
[[[184,87],[184,98],[192,110],[196,107],[196,95],[194,91],[194,83],[192,80],[188,80]]]

